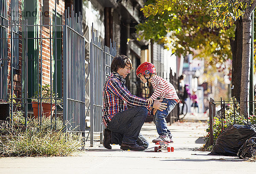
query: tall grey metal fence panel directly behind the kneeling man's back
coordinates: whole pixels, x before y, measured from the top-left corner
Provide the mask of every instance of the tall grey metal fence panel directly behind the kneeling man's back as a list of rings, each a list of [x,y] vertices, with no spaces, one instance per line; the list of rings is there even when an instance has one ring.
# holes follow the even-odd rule
[[[111,42],[111,41],[110,41]],[[106,78],[111,75],[110,66],[116,55],[115,44],[102,48],[102,43],[96,31],[90,42],[90,145],[93,146],[94,132],[100,133],[102,143],[103,133],[103,86]]]

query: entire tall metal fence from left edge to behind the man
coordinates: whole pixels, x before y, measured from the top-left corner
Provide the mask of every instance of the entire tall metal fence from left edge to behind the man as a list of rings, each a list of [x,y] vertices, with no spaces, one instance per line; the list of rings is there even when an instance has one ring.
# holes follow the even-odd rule
[[[32,111],[32,104],[37,105],[37,119],[39,125],[41,125],[44,116],[44,103],[49,103],[51,106],[62,104],[63,109],[58,108],[58,110],[50,111],[50,115],[55,114],[53,117],[50,116],[51,123],[56,123],[57,114],[60,116],[63,114],[63,124],[66,126],[65,130],[67,132],[82,133],[82,136],[84,136],[86,133],[85,117],[90,114],[91,145],[93,145],[93,134],[95,132],[100,132],[102,137],[102,90],[106,78],[111,75],[111,61],[113,56],[116,55],[115,44],[113,43],[112,45],[111,43],[110,47],[103,47],[97,34],[95,35],[93,32],[90,43],[90,70],[86,72],[85,38],[81,14],[76,14],[73,8],[71,8],[71,11],[68,8],[65,11],[64,25],[57,24],[56,17],[54,19],[55,21],[53,21],[54,24],[51,24],[51,18],[49,18],[48,25],[42,24],[42,13],[37,24],[28,24],[23,19],[19,19],[19,22],[16,21],[14,23],[12,19],[16,19],[19,14],[11,14],[14,18],[11,17],[9,21],[6,19],[6,3],[1,1],[0,7],[0,102],[8,102],[10,99],[11,123],[15,114],[14,108],[22,111],[26,126],[27,119],[35,115]],[[16,6],[13,6],[13,8],[15,8],[15,12],[20,12]],[[6,22],[2,23],[3,20],[6,20]],[[49,36],[44,35],[43,27],[49,29]],[[20,31],[17,29],[20,29]],[[15,34],[21,34],[17,37],[14,35],[8,37],[8,32],[13,33],[13,31],[15,31]],[[28,32],[30,33],[28,34]],[[58,32],[61,34],[58,35]],[[49,43],[48,57],[43,54],[43,52],[45,53],[43,50],[48,46],[45,45],[46,41]],[[8,42],[11,44],[7,48]],[[33,44],[29,44],[29,42],[33,42]],[[21,49],[15,43],[22,43],[22,56],[18,56],[17,51],[19,53]],[[34,49],[33,46],[36,46],[35,50],[33,50],[35,54],[30,55],[29,49]],[[58,50],[58,47],[61,49]],[[7,50],[11,54],[11,58],[9,59],[7,59]],[[58,58],[57,55],[59,55]],[[21,63],[19,63],[20,61]],[[49,62],[47,67],[47,70],[50,72],[48,79],[50,88],[49,96],[43,96],[42,91],[45,85],[44,74],[46,73],[46,67],[43,67],[45,66],[45,61]],[[60,62],[60,67],[57,66],[58,61]],[[8,69],[10,70],[8,71]],[[22,89],[21,94],[17,98],[14,95],[16,81],[14,81],[15,74],[13,73],[16,70],[21,71],[19,82],[20,89]],[[61,72],[63,76],[57,77],[58,72]],[[86,75],[86,73],[90,73],[90,75]],[[90,104],[86,106],[85,86],[89,83]],[[59,93],[60,97],[57,97],[57,87],[62,87],[62,84],[63,89]],[[7,92],[10,94],[10,97],[7,96]],[[35,99],[36,102],[32,102],[32,99]],[[21,106],[15,107],[15,103],[18,102],[21,103]]]

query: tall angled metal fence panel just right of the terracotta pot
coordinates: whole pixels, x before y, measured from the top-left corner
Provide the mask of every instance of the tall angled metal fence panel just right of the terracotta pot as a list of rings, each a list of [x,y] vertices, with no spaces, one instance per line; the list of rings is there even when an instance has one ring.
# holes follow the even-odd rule
[[[68,132],[85,132],[85,39],[81,14],[65,11],[63,121]]]

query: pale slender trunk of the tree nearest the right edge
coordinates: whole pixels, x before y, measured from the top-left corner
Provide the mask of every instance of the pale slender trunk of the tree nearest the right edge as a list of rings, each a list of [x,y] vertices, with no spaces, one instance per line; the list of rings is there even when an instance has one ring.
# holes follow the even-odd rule
[[[252,23],[251,12],[246,11],[243,15],[243,56],[242,56],[242,73],[241,73],[241,101],[249,99],[249,73],[250,73],[250,55],[251,55],[251,38]],[[246,102],[240,103],[240,114],[247,115]]]

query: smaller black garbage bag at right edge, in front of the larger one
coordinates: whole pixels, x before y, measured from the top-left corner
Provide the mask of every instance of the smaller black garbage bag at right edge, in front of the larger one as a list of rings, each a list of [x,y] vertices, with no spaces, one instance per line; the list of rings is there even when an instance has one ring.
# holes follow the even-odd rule
[[[256,137],[247,139],[237,153],[237,156],[242,159],[251,158],[253,155],[256,155]]]

